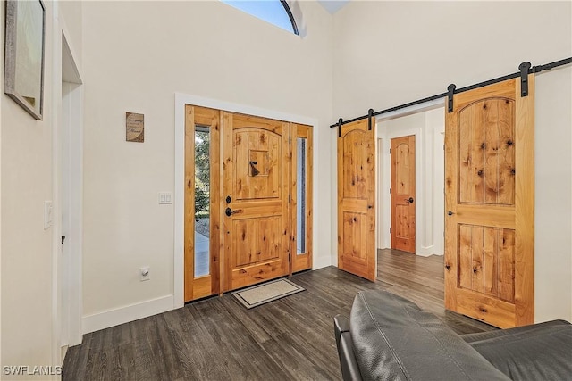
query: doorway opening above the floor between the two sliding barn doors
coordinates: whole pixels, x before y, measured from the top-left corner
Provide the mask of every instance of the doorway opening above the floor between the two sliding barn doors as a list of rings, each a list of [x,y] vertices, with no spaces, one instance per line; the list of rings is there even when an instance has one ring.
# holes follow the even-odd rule
[[[420,256],[444,253],[444,114],[442,103],[429,104],[377,121],[382,166],[379,249],[395,248]],[[411,159],[407,163],[405,153]],[[396,162],[400,162],[401,174],[396,173]]]

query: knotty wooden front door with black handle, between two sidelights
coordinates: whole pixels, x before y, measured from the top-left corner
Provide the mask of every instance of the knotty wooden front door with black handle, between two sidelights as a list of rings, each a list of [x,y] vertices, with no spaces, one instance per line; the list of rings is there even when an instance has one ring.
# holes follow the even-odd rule
[[[288,275],[290,125],[223,112],[223,290]]]

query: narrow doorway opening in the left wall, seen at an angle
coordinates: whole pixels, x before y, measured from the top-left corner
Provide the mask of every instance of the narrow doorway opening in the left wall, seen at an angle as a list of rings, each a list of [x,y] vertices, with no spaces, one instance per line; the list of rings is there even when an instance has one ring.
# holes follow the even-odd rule
[[[60,359],[67,348],[81,344],[83,227],[83,86],[71,46],[62,32],[61,108],[57,119],[55,184],[59,206],[55,228],[57,255],[57,341]],[[57,171],[55,171],[57,173]]]

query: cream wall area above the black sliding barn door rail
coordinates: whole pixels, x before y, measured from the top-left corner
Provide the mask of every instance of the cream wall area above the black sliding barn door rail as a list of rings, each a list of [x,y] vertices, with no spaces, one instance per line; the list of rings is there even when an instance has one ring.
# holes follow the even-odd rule
[[[353,1],[333,16],[333,120],[570,56],[570,2]]]

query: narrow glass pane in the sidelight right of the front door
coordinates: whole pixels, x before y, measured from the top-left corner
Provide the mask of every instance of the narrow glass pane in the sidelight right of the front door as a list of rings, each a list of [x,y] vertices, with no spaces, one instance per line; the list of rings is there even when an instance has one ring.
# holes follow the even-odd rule
[[[306,253],[306,199],[307,199],[307,139],[296,139],[296,254]]]

